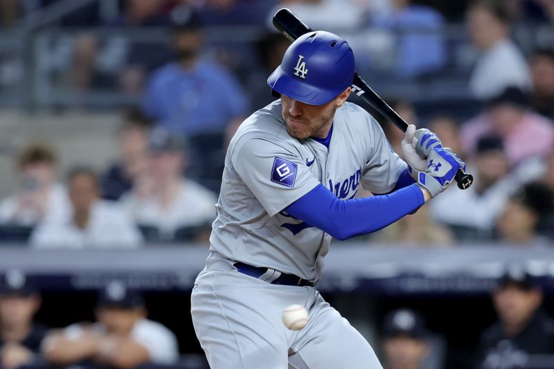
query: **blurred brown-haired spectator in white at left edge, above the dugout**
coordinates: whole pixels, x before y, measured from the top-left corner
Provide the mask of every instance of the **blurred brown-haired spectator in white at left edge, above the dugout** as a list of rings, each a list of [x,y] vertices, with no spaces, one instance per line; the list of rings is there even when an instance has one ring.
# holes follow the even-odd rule
[[[31,144],[17,155],[19,190],[0,202],[0,223],[33,226],[69,215],[65,187],[57,183],[57,158],[46,145]]]

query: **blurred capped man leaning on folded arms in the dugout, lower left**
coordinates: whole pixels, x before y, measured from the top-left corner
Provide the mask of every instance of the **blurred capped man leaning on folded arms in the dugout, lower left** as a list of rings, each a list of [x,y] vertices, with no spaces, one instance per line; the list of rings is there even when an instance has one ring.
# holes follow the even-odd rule
[[[168,328],[149,321],[142,296],[120,282],[100,293],[96,323],[78,323],[46,336],[44,356],[53,365],[85,360],[112,368],[136,368],[145,363],[173,364],[177,339]]]

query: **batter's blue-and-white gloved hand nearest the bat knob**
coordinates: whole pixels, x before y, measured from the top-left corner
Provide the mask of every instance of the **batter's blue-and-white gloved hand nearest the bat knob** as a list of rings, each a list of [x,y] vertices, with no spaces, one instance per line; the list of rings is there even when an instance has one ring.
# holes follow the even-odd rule
[[[454,181],[458,170],[465,170],[465,163],[449,149],[435,147],[427,157],[425,171],[411,170],[415,181],[425,188],[431,197],[436,197]],[[415,174],[415,176],[414,176]]]

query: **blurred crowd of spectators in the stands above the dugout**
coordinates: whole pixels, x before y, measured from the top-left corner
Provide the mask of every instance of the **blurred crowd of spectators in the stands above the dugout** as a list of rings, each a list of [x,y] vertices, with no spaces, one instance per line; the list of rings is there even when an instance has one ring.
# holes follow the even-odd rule
[[[61,1],[4,1],[3,24],[15,27],[26,12],[55,3]],[[415,102],[395,96],[388,101],[406,121],[429,127],[460,154],[475,183],[464,191],[452,186],[415,215],[372,235],[371,242],[548,244],[554,236],[554,47],[545,44],[526,54],[511,35],[522,21],[551,24],[551,1],[475,0],[442,8],[427,3],[431,6],[410,0],[350,0],[348,6],[334,0],[125,0],[112,7],[113,19],[100,11],[101,1],[70,12],[62,27],[107,28],[114,34],[110,42],[117,42],[123,29],[163,26],[170,32],[166,44],[133,44],[118,78],[107,78],[140,102],[125,107],[118,161],[100,172],[75,163],[63,176],[55,147],[21,147],[15,157],[19,187],[0,202],[0,240],[44,248],[206,242],[226,144],[253,109],[274,99],[265,80],[289,44],[282,35],[267,33],[248,48],[208,48],[206,32],[264,26],[274,10],[288,6],[314,28],[371,24],[373,30],[397,33],[397,59],[391,63],[395,78],[406,84],[448,76],[452,62],[441,30],[456,14],[467,26],[477,56],[465,78],[472,100],[464,114],[440,102],[420,114]],[[111,60],[115,46],[100,45],[87,30],[72,42],[68,73],[78,95],[106,82],[102,60]],[[370,56],[357,52],[358,68],[371,64]],[[233,69],[250,57],[259,64],[250,75]],[[402,132],[375,117],[401,154]]]

